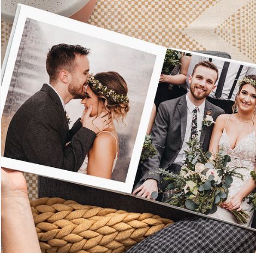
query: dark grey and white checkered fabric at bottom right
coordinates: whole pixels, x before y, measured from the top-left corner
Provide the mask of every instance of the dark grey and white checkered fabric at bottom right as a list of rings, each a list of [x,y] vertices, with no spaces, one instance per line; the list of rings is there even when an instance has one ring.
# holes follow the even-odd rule
[[[130,248],[127,253],[254,253],[256,232],[208,218],[176,222]]]

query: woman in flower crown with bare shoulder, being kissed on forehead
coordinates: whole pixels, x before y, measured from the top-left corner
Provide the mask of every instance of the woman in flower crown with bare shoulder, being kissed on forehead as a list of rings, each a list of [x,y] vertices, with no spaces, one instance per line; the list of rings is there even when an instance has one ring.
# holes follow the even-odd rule
[[[78,172],[110,179],[119,152],[118,136],[113,121],[121,119],[124,122],[129,111],[127,83],[114,71],[91,75],[87,83],[85,98],[81,101],[85,106],[83,115],[92,105],[91,117],[106,111],[111,117],[111,122],[109,128],[98,132]]]

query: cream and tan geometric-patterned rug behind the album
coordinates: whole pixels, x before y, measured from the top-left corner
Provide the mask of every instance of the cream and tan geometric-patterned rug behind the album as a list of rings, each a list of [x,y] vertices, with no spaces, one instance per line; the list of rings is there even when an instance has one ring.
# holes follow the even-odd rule
[[[88,23],[151,43],[183,50],[224,51],[256,62],[256,0],[98,0]],[[2,59],[11,25],[1,23]],[[37,176],[26,174],[29,198]]]

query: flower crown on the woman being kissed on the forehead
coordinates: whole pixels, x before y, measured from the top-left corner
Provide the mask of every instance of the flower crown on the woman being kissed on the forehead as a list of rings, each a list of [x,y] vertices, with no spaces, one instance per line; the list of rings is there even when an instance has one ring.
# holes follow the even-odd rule
[[[116,103],[126,103],[126,104],[129,103],[129,98],[127,97],[127,95],[118,94],[113,89],[109,89],[108,87],[102,85],[102,83],[100,83],[99,80],[95,79],[93,74],[91,74],[87,78],[87,82],[92,85],[92,88],[95,91],[102,93],[108,98],[111,98]]]

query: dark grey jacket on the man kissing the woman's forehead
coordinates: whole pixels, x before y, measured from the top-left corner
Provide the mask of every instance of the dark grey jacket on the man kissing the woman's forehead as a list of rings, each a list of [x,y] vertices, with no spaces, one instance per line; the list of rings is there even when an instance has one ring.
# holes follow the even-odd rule
[[[78,171],[96,134],[77,121],[68,130],[66,113],[53,89],[44,84],[11,119],[4,156],[35,164]],[[67,146],[66,143],[71,141]],[[54,181],[55,182],[55,181]],[[45,188],[55,190],[65,182],[39,178],[39,195]]]

